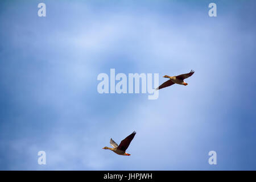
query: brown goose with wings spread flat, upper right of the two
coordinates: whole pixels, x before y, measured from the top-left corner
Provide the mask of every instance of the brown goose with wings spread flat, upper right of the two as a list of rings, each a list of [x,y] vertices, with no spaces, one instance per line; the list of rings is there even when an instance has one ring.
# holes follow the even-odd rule
[[[167,86],[171,86],[174,84],[179,84],[179,85],[188,85],[184,79],[188,78],[190,76],[192,76],[195,72],[191,69],[191,71],[189,73],[185,73],[182,75],[178,75],[178,76],[168,76],[168,75],[164,75],[164,78],[170,78],[170,80],[164,82],[162,85],[160,85],[158,88],[156,88],[156,90],[160,90],[162,88],[165,88]]]

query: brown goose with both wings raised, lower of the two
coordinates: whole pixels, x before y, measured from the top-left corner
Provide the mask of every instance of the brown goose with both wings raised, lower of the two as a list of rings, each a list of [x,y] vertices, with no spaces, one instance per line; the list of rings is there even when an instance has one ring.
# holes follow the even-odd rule
[[[133,140],[134,136],[135,136],[136,132],[134,131],[132,134],[130,134],[128,137],[126,137],[125,139],[122,140],[122,142],[119,144],[115,143],[114,140],[111,138],[110,139],[110,145],[113,148],[109,148],[109,147],[103,147],[102,149],[109,149],[112,150],[113,152],[115,152],[115,154],[118,155],[131,155],[131,154],[127,154],[125,151],[126,149],[129,147],[129,144],[131,143],[131,140]]]

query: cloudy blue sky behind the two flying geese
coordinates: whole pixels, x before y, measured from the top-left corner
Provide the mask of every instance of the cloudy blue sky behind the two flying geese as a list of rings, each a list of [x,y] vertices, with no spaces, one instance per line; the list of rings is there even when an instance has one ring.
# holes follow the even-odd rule
[[[255,170],[255,6],[1,1],[0,169]],[[111,68],[159,73],[159,84],[195,73],[148,100],[98,93],[97,76]],[[131,156],[102,150],[133,131]]]

